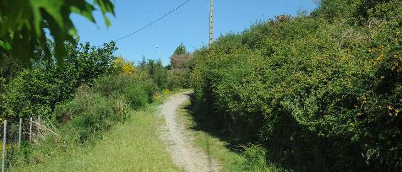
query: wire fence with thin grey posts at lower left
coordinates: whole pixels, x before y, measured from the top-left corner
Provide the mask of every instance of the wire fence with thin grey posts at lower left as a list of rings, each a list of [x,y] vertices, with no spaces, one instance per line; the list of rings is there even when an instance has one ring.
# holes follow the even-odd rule
[[[19,121],[2,121],[0,136],[2,138],[2,172],[11,166],[16,150],[24,144],[37,143],[43,136],[40,118],[19,119]]]

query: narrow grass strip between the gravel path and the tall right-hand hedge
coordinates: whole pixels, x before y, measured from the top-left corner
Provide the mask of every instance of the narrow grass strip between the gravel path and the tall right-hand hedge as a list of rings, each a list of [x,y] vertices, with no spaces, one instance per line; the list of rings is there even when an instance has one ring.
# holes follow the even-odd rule
[[[225,136],[217,135],[218,129],[211,127],[208,121],[199,120],[198,107],[187,101],[177,110],[178,119],[188,128],[189,134],[194,137],[196,147],[203,149],[207,154],[221,162],[225,172],[260,171],[286,172],[280,166],[266,162],[265,150],[257,145],[233,146],[225,140]]]

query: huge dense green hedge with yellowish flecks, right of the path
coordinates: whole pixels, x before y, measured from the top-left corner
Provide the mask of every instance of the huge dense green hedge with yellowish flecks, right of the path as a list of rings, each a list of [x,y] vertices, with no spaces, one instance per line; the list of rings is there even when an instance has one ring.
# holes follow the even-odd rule
[[[191,80],[236,141],[258,141],[273,161],[398,171],[401,31],[401,1],[323,0],[198,50]]]

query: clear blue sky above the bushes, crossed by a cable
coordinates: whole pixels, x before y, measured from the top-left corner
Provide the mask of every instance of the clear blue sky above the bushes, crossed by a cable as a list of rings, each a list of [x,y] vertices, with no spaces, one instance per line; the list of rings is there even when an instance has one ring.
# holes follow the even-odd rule
[[[111,27],[106,28],[100,12],[95,12],[96,25],[85,18],[72,15],[80,41],[92,45],[125,36],[156,20],[185,0],[116,0],[116,16],[110,16]],[[297,14],[299,9],[311,11],[314,0],[214,0],[214,39],[228,32],[240,32],[259,20],[278,14]],[[117,42],[116,55],[130,61],[158,59],[160,49],[164,65],[174,49],[183,43],[188,51],[208,44],[209,0],[191,0],[154,25]]]

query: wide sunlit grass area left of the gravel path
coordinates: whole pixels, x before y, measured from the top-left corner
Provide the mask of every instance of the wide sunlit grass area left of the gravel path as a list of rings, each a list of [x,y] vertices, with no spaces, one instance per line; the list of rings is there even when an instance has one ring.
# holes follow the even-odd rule
[[[126,123],[105,133],[94,146],[55,152],[44,162],[11,171],[183,171],[172,163],[158,138],[156,127],[163,121],[156,115],[157,105],[131,111]]]

